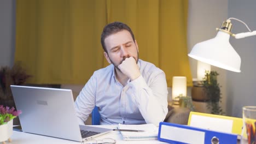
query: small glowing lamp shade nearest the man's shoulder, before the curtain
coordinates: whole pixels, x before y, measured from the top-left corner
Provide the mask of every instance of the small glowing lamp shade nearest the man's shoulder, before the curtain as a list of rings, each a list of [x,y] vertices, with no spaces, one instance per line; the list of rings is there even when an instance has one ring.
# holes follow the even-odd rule
[[[185,76],[172,77],[172,100],[179,95],[187,96],[187,78]]]

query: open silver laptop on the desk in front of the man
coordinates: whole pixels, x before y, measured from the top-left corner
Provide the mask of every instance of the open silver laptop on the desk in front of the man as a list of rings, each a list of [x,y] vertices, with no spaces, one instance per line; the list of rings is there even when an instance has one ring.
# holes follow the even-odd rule
[[[71,89],[11,85],[22,131],[73,141],[86,141],[112,129],[79,125]],[[82,137],[83,133],[89,136]]]

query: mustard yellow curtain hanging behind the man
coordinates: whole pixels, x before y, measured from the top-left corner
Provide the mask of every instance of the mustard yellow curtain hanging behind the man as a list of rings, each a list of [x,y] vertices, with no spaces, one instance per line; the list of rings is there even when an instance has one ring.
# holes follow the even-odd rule
[[[106,67],[100,35],[113,21],[127,23],[139,58],[172,76],[192,77],[187,56],[188,0],[16,1],[15,61],[31,83],[82,84]]]

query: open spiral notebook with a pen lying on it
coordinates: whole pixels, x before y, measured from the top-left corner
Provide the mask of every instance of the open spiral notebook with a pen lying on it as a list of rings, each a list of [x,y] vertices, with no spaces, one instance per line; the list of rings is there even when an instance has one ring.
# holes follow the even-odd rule
[[[143,132],[130,132],[120,131],[123,136],[123,140],[137,141],[137,140],[157,140],[158,139],[158,127],[154,124],[119,124],[119,129],[131,129],[131,130],[144,130]]]

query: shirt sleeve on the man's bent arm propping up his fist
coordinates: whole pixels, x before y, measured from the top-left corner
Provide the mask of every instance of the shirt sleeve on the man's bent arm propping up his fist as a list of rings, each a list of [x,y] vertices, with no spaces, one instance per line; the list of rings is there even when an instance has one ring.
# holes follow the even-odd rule
[[[167,106],[167,83],[164,71],[150,78],[148,85],[143,76],[130,82],[134,99],[146,123],[153,123],[156,126],[164,121],[168,112]]]

